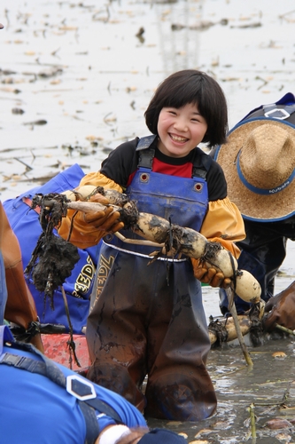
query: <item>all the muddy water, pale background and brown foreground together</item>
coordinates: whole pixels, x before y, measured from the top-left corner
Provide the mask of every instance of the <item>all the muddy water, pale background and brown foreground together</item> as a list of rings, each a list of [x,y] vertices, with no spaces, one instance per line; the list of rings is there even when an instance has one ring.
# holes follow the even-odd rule
[[[295,92],[293,0],[13,0],[0,22],[0,198],[16,196],[73,163],[98,170],[121,141],[144,136],[144,110],[167,75],[196,67],[221,83],[230,126],[253,108]],[[276,291],[294,279],[294,245]],[[219,315],[204,288],[206,314]],[[295,442],[294,340],[252,348],[253,369],[237,345],[213,349],[208,369],[219,405],[200,424],[153,421],[188,442]],[[273,353],[283,352],[278,359]]]

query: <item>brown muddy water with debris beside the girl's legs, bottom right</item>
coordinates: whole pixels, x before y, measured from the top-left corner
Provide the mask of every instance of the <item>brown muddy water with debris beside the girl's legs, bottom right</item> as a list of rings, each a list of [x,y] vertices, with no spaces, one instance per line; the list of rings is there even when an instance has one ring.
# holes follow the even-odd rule
[[[295,429],[291,424],[295,418],[294,340],[273,338],[259,348],[248,347],[248,350],[252,369],[245,365],[237,345],[211,351],[207,368],[218,398],[214,416],[198,424],[166,422],[165,425],[184,433],[188,442],[196,444],[294,442]],[[251,406],[256,439],[251,427]],[[291,426],[269,429],[267,423],[274,418],[288,419]],[[153,420],[149,424],[164,423]]]

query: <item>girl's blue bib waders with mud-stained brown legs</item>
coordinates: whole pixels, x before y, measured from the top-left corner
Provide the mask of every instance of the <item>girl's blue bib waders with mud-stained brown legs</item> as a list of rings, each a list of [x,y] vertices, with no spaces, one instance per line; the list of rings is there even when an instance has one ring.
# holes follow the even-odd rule
[[[206,180],[153,172],[153,139],[138,143],[138,170],[128,197],[141,212],[199,230],[208,205]],[[87,325],[88,377],[137,408],[145,407],[147,416],[198,421],[216,408],[206,371],[210,341],[201,286],[190,258],[158,258],[149,264],[154,250],[105,238],[97,266],[97,300]]]

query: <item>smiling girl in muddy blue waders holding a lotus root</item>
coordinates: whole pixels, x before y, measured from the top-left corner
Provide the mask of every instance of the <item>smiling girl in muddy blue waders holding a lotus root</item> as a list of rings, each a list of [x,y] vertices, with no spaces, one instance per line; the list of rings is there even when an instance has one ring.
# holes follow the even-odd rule
[[[245,237],[243,219],[229,202],[221,167],[198,147],[226,141],[227,105],[219,84],[192,69],[170,75],[151,99],[145,122],[151,136],[121,144],[81,185],[124,191],[139,211],[193,228],[237,257],[233,242]],[[80,247],[98,242],[102,230],[122,227],[118,216],[80,213],[71,241]],[[66,237],[68,227],[69,218],[59,233]],[[128,230],[121,233],[135,237]],[[216,397],[206,370],[210,341],[196,277],[212,286],[229,282],[183,256],[148,265],[154,250],[105,235],[97,300],[87,325],[88,377],[122,394],[146,416],[198,421],[213,414]]]

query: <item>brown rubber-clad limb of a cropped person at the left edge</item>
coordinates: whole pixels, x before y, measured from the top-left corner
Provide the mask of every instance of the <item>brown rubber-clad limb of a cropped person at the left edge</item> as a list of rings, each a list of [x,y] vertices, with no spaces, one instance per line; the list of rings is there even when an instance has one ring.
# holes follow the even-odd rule
[[[28,329],[32,321],[37,321],[35,300],[25,281],[19,241],[12,231],[2,203],[0,202],[0,250],[4,257],[5,279],[7,286],[7,303],[4,317],[24,329]],[[30,342],[43,352],[40,333]]]

